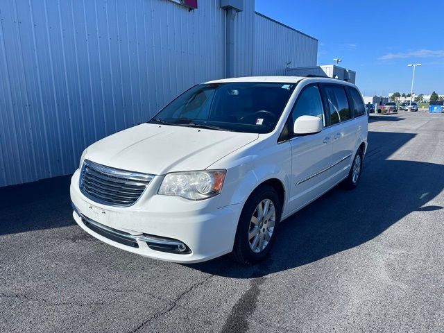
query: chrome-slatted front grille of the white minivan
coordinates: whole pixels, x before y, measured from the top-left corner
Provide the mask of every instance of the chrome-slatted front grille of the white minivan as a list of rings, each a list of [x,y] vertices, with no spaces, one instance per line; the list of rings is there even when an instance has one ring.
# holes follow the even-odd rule
[[[106,167],[85,160],[80,171],[80,191],[96,203],[133,205],[144,193],[153,175]]]

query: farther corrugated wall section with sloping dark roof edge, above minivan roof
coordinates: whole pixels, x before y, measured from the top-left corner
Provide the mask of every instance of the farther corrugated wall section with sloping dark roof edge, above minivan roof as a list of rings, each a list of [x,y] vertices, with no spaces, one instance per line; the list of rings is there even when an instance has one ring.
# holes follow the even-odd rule
[[[318,40],[255,13],[253,75],[286,75],[289,67],[316,66]]]

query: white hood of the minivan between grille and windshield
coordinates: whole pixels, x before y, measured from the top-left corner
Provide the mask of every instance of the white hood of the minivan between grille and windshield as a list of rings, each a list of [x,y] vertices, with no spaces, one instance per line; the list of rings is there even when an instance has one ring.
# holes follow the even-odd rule
[[[143,123],[92,144],[85,158],[108,167],[162,175],[206,169],[258,137],[256,133]]]

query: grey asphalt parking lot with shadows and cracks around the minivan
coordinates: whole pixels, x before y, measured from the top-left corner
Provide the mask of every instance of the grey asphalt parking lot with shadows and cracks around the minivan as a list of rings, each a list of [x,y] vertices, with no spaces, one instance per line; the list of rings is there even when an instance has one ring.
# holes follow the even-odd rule
[[[67,177],[0,189],[0,332],[444,332],[444,114],[370,119],[359,187],[284,221],[252,267],[102,244]]]

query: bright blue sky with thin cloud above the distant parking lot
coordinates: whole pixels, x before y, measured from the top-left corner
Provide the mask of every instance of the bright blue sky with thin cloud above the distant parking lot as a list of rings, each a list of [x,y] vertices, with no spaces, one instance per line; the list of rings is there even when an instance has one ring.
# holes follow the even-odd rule
[[[256,0],[258,12],[316,37],[318,65],[342,59],[366,95],[444,94],[444,1]],[[434,17],[434,14],[436,16]]]

